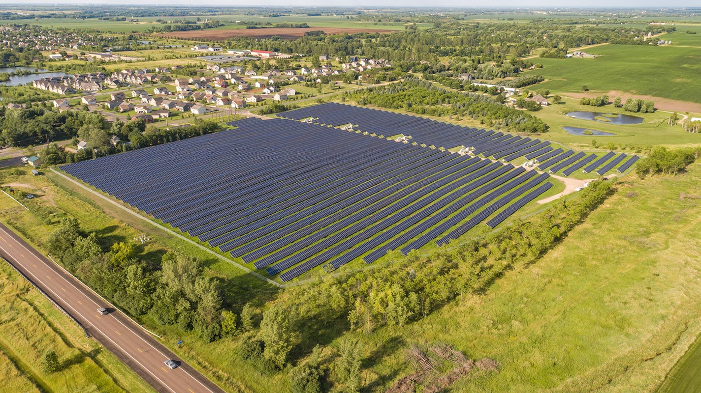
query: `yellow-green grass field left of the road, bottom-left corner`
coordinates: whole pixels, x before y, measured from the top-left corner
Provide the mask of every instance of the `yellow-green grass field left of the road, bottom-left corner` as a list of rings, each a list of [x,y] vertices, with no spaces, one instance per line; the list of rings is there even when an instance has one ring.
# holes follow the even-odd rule
[[[0,283],[0,380],[4,390],[152,392],[144,380],[86,338],[4,261],[0,261]],[[48,349],[59,356],[60,371],[41,370],[41,357]]]

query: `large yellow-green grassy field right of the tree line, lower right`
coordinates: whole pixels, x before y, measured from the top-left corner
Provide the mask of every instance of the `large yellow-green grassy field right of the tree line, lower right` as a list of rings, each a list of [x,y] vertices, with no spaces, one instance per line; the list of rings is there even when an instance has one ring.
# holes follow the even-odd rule
[[[699,184],[700,164],[674,178],[622,180],[557,248],[486,294],[403,329],[355,334],[390,353],[367,378],[409,373],[396,371],[404,359],[391,349],[397,343],[449,341],[501,364],[456,383],[456,392],[654,392],[701,332],[701,203],[679,198],[699,194]],[[699,389],[676,387],[668,391]]]

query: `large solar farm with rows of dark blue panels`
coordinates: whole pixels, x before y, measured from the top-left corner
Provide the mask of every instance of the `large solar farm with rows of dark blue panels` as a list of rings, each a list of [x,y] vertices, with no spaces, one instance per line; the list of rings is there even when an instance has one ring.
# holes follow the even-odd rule
[[[550,190],[548,169],[625,171],[637,159],[335,103],[282,115],[62,170],[289,281],[494,228]],[[523,158],[539,171],[508,163]]]

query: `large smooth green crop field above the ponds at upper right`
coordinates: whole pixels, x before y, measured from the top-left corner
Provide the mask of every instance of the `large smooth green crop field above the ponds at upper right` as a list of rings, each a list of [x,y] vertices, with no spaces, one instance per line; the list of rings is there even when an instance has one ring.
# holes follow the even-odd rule
[[[676,34],[676,33],[674,33]],[[692,104],[678,105],[668,110],[701,112],[701,90],[694,80],[701,70],[701,53],[693,48],[648,45],[601,45],[589,50],[594,59],[533,59],[543,64],[542,69],[527,71],[524,75],[542,75],[546,81],[531,86],[531,90],[547,89],[550,92],[582,93],[586,85],[590,92],[615,91],[633,95],[661,97]],[[662,71],[663,70],[663,71]],[[674,103],[670,103],[674,106]]]

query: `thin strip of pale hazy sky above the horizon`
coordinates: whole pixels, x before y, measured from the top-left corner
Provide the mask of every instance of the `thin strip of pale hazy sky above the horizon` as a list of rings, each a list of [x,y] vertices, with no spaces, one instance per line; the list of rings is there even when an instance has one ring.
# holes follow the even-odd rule
[[[18,0],[0,0],[0,4],[20,3]],[[137,3],[135,0],[58,0],[48,2],[46,0],[25,0],[27,3],[42,3],[42,4],[114,4],[114,5],[132,5]],[[246,1],[245,3],[236,3],[231,0],[147,0],[143,3],[138,3],[142,6],[159,5],[159,6],[319,6],[319,7],[375,7],[375,6],[395,6],[395,7],[451,7],[451,8],[488,8],[488,7],[522,7],[522,8],[582,8],[582,7],[625,7],[625,8],[660,8],[658,0],[489,0],[489,1],[461,1],[461,0],[433,0],[430,2],[423,0],[256,0]],[[700,7],[701,3],[697,0],[671,0],[664,3],[665,8],[683,8],[683,7]]]

